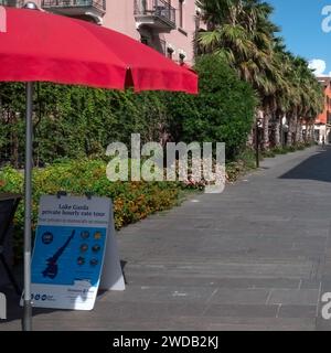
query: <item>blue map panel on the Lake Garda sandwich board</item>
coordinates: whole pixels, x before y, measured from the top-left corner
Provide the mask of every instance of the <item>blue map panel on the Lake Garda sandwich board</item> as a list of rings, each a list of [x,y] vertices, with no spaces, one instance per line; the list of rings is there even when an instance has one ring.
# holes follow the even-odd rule
[[[39,226],[32,260],[32,282],[97,286],[106,246],[105,228]]]

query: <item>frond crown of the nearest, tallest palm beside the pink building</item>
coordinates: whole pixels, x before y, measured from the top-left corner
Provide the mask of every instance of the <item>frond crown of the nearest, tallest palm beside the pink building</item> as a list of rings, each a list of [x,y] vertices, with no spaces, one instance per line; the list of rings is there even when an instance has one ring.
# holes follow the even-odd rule
[[[271,8],[258,0],[199,0],[209,31],[200,33],[202,52],[226,58],[245,81],[260,84],[257,76],[270,64]]]

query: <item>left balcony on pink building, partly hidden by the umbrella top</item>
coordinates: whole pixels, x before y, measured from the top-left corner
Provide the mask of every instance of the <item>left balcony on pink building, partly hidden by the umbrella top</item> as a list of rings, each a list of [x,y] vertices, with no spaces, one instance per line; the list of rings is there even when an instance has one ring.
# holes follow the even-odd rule
[[[106,0],[42,0],[42,8],[63,15],[90,15],[100,20],[106,12]]]

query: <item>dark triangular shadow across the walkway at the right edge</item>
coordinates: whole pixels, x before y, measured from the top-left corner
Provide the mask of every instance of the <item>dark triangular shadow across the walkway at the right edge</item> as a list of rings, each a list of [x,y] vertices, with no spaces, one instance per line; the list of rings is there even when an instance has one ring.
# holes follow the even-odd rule
[[[279,176],[279,179],[331,182],[331,147],[321,148],[316,154]]]

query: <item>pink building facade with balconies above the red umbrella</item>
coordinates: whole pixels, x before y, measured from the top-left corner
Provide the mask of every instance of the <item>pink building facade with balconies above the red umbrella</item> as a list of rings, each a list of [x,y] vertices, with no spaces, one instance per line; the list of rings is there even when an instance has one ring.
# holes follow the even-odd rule
[[[0,0],[21,7],[23,0]],[[201,28],[195,0],[34,0],[42,9],[92,21],[156,49],[178,63],[193,64]]]

